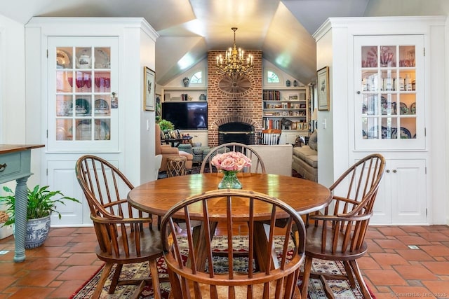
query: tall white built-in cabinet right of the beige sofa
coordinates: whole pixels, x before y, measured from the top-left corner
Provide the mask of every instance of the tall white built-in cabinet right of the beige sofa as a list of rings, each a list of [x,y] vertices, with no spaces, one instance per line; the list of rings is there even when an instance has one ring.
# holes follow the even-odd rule
[[[319,183],[381,153],[371,224],[447,219],[444,25],[441,17],[330,18],[314,34],[316,67],[330,76],[330,109],[318,111]]]

